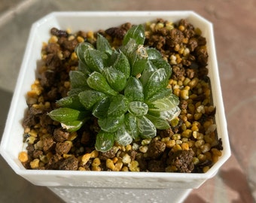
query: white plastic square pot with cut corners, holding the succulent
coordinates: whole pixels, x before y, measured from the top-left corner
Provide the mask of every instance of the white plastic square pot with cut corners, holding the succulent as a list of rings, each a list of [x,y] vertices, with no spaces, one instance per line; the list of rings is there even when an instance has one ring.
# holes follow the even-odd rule
[[[204,174],[26,170],[18,159],[18,153],[23,150],[22,120],[27,108],[25,95],[35,80],[37,61],[41,59],[41,46],[50,38],[50,29],[56,27],[72,29],[72,32],[96,31],[126,22],[138,24],[157,18],[172,22],[177,22],[182,18],[187,19],[195,27],[199,27],[202,35],[206,37],[212,97],[217,110],[215,121],[218,136],[222,139],[224,147],[218,162]],[[32,25],[0,150],[6,162],[17,174],[35,185],[50,187],[53,192],[69,202],[83,202],[84,198],[87,202],[90,200],[98,202],[97,200],[101,199],[105,202],[108,202],[106,200],[115,202],[112,198],[114,196],[119,196],[117,202],[121,198],[125,198],[125,202],[136,200],[148,202],[154,199],[157,202],[167,202],[170,198],[172,202],[182,201],[191,189],[199,187],[213,177],[230,156],[212,23],[192,11],[54,12],[48,14]]]

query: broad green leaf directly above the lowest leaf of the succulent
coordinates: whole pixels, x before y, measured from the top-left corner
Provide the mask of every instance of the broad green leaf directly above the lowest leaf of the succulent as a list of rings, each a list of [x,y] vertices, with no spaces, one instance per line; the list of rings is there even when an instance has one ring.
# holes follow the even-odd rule
[[[120,117],[105,117],[98,120],[99,127],[105,132],[116,132],[123,125],[124,114]]]

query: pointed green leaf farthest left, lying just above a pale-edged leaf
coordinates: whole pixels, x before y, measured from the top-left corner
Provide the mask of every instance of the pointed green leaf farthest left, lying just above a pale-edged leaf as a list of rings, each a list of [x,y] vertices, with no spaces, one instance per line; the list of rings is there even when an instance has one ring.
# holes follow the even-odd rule
[[[86,112],[78,111],[72,108],[56,108],[48,113],[52,120],[60,123],[67,123],[74,120],[83,120],[86,117]]]

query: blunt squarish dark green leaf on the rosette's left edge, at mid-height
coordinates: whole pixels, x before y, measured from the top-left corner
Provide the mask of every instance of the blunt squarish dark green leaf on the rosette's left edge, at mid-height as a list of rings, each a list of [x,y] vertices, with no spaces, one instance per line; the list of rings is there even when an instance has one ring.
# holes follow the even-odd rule
[[[88,86],[87,76],[81,71],[70,71],[69,77],[72,88],[84,88]]]

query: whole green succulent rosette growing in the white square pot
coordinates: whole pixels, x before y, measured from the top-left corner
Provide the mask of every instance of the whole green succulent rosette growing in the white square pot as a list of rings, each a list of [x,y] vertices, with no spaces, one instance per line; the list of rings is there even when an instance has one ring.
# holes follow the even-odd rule
[[[100,127],[96,150],[111,149],[114,141],[126,146],[133,140],[154,138],[168,129],[180,113],[178,97],[167,88],[172,68],[160,52],[144,47],[144,26],[133,26],[114,49],[97,34],[96,47],[78,44],[77,71],[70,71],[71,89],[48,115],[69,132],[92,117]]]

